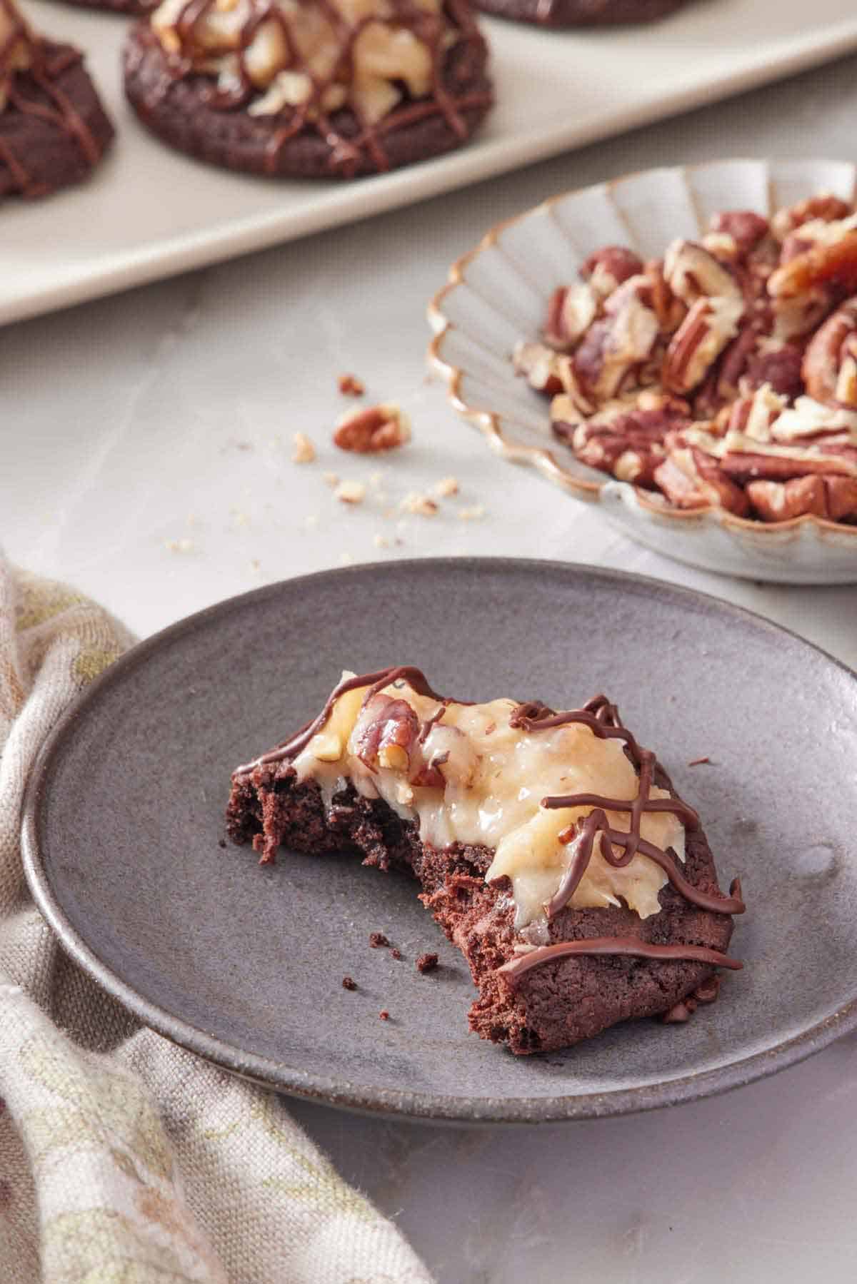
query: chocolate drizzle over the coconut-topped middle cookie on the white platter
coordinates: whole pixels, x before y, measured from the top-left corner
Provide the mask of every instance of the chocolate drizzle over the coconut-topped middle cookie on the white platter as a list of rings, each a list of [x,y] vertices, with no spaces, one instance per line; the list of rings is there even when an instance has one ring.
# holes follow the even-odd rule
[[[212,51],[200,46],[194,28],[198,22],[204,21],[215,3],[216,0],[188,0],[180,12],[173,28],[180,48],[175,55],[167,56],[168,78],[158,87],[155,100],[168,91],[171,80],[198,72],[194,67],[195,55],[211,58]],[[302,56],[299,41],[292,27],[292,23],[299,22],[299,18],[293,18],[285,9],[280,8],[276,0],[254,0],[251,17],[238,36],[238,82],[234,89],[227,91],[212,86],[207,96],[208,107],[215,110],[247,107],[258,92],[248,69],[248,50],[258,30],[267,22],[275,23],[283,36],[288,56],[288,62],[281,69],[306,74],[310,81],[310,92],[306,101],[271,113],[270,119],[281,118],[284,123],[281,128],[272,132],[267,144],[265,168],[269,173],[278,172],[278,160],[283,148],[307,130],[315,131],[330,148],[328,164],[333,173],[346,176],[357,173],[366,160],[370,162],[371,168],[384,171],[389,168],[384,135],[415,125],[427,117],[441,116],[452,135],[459,141],[464,141],[469,134],[464,113],[470,108],[491,105],[492,95],[487,82],[475,89],[460,91],[456,91],[451,83],[455,81],[466,82],[465,71],[469,71],[469,65],[465,64],[478,65],[484,51],[484,41],[466,0],[443,0],[442,9],[437,14],[420,8],[415,0],[387,0],[383,14],[370,13],[356,22],[349,22],[333,0],[298,0],[298,4],[316,8],[334,33],[337,54],[331,59],[330,69],[325,74],[319,74]],[[355,45],[361,32],[371,23],[378,22],[384,22],[396,30],[410,31],[423,42],[429,53],[432,65],[430,90],[427,96],[402,101],[380,121],[370,122],[361,113],[352,92]],[[452,45],[447,42],[450,31],[455,33]],[[451,50],[460,50],[465,63],[460,67],[460,74],[447,77]],[[334,86],[346,89],[346,103],[343,107],[329,109],[325,108],[324,100],[326,92]]]

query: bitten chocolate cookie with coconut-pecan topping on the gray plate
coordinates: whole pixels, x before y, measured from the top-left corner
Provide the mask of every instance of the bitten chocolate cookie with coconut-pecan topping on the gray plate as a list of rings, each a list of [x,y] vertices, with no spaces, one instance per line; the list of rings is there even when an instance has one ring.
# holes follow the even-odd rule
[[[263,863],[284,844],[409,869],[478,986],[470,1028],[513,1053],[686,1021],[740,967],[740,887],[720,891],[696,813],[604,696],[554,713],[443,698],[411,666],[346,673],[234,772],[226,822]]]

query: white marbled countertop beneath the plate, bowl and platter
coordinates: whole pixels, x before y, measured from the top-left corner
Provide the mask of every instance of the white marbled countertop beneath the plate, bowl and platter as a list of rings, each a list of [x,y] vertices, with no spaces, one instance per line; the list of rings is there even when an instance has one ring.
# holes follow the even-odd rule
[[[848,59],[400,213],[1,330],[6,551],[73,580],[139,634],[344,560],[590,561],[749,606],[857,666],[857,588],[694,571],[490,455],[427,380],[423,317],[452,258],[554,191],[730,154],[853,159],[856,117]],[[62,230],[59,202],[57,213]],[[373,401],[405,406],[405,452],[334,451],[330,426],[353,404],[335,389],[343,371]],[[297,430],[315,440],[316,464],[290,462]],[[322,476],[379,469],[353,510]],[[450,474],[460,494],[437,516],[385,516]],[[457,516],[479,505],[483,516]],[[857,1252],[856,1053],[851,1036],[776,1079],[622,1121],[479,1131],[303,1103],[294,1113],[443,1284],[838,1284],[853,1280]]]

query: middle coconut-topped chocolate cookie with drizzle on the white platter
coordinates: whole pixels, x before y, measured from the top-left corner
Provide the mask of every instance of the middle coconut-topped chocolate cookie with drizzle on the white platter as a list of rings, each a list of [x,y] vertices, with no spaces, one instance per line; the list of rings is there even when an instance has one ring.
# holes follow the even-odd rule
[[[463,0],[164,0],[125,87],[164,143],[272,177],[378,173],[465,143],[491,107]]]

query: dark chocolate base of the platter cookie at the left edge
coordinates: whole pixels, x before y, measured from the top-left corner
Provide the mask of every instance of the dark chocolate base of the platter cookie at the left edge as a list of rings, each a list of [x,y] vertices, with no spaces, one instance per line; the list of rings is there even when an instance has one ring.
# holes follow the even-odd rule
[[[75,60],[53,77],[51,83],[68,99],[85,125],[100,159],[113,140],[113,126],[80,55],[69,45],[51,41],[42,41],[42,49],[54,62],[66,54],[75,54]],[[54,99],[28,72],[17,72],[15,85],[33,104],[51,110],[57,108]],[[50,195],[60,187],[81,182],[93,171],[90,157],[68,128],[42,116],[22,112],[14,103],[8,103],[0,112],[0,199],[22,191],[6,159],[6,149],[26,171],[28,182],[22,194],[27,196]]]

